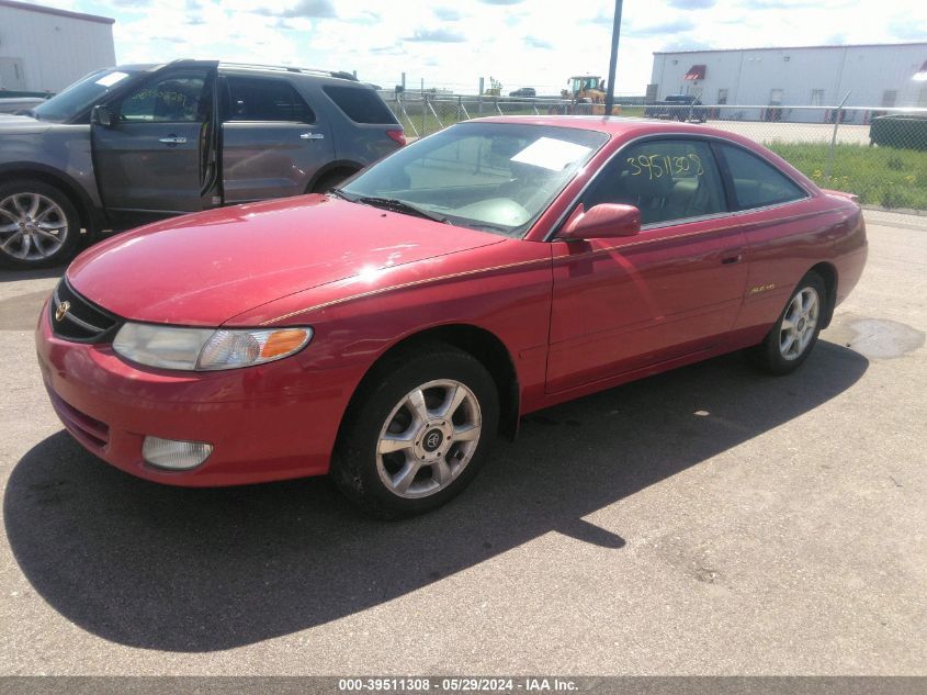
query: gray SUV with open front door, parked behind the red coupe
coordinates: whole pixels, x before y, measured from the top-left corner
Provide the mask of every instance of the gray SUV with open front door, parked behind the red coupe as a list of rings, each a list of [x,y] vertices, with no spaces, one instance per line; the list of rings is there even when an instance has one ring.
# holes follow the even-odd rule
[[[53,266],[82,236],[325,191],[404,144],[374,88],[348,72],[214,60],[100,70],[29,115],[0,115],[0,265]]]

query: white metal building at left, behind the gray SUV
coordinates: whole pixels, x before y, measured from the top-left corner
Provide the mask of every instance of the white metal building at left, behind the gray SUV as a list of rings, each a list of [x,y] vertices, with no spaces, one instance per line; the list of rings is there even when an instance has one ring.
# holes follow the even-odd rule
[[[57,92],[116,63],[115,20],[0,0],[2,90]]]

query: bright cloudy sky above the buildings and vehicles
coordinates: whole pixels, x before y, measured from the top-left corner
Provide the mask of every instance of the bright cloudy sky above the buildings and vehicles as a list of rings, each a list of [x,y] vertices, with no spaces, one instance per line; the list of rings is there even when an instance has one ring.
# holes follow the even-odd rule
[[[224,58],[357,70],[392,87],[557,92],[608,72],[613,0],[44,0],[115,18],[122,63]],[[927,41],[927,0],[625,0],[620,93],[653,52]]]

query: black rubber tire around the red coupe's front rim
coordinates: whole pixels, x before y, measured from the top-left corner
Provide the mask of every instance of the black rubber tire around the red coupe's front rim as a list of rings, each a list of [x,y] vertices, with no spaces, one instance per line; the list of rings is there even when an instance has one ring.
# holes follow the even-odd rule
[[[472,395],[478,404],[476,417],[481,428],[475,446],[470,449],[468,459],[456,470],[451,482],[443,487],[437,487],[433,492],[416,493],[414,490],[416,485],[438,484],[433,480],[433,477],[438,474],[434,468],[437,463],[419,463],[417,459],[409,461],[407,457],[415,459],[419,452],[423,452],[421,448],[416,450],[409,447],[408,450],[381,456],[378,444],[382,433],[388,434],[388,427],[392,427],[400,416],[411,414],[410,411],[403,410],[407,407],[403,405],[408,403],[406,396],[420,386],[437,381],[456,382],[468,390],[468,396]],[[440,386],[426,390],[425,393],[428,397],[432,397],[439,390]],[[434,405],[434,407],[439,406]],[[399,408],[398,413],[396,408]],[[464,418],[474,413],[470,400],[462,403],[455,413],[460,415],[464,410],[466,411]],[[449,425],[452,431],[456,431],[453,428],[457,424],[457,415],[453,413],[452,415],[455,421],[450,422],[449,417]],[[351,412],[348,413],[339,433],[332,456],[331,478],[348,498],[366,514],[386,519],[421,514],[449,502],[476,477],[496,437],[498,423],[498,391],[486,368],[472,355],[453,346],[443,343],[419,344],[414,349],[404,350],[385,359],[361,385]],[[420,433],[412,437],[421,439],[423,444],[425,438],[433,433],[433,429],[428,429],[428,427],[431,425],[419,426],[410,422],[408,431]],[[442,448],[449,447],[446,456],[442,456],[442,459],[450,461],[449,466],[454,462],[460,464],[465,456],[462,452],[464,448],[470,447],[471,442],[449,444],[451,439],[452,437],[446,437],[440,442]],[[440,451],[441,449],[433,456]],[[429,456],[432,455],[429,453]],[[457,459],[457,456],[461,458]],[[389,459],[389,457],[393,458]],[[399,457],[398,462],[395,457]],[[409,487],[409,493],[421,496],[402,496],[384,482],[384,477],[398,478],[406,466],[415,466],[409,470],[418,471],[411,475],[414,482]],[[421,482],[416,482],[419,480]]]

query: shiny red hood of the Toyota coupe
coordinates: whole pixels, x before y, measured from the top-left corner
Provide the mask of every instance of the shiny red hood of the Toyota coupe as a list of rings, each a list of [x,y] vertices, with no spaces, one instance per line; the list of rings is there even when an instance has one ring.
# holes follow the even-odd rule
[[[81,254],[67,277],[83,296],[125,318],[218,326],[294,292],[501,240],[306,195],[121,234]]]

